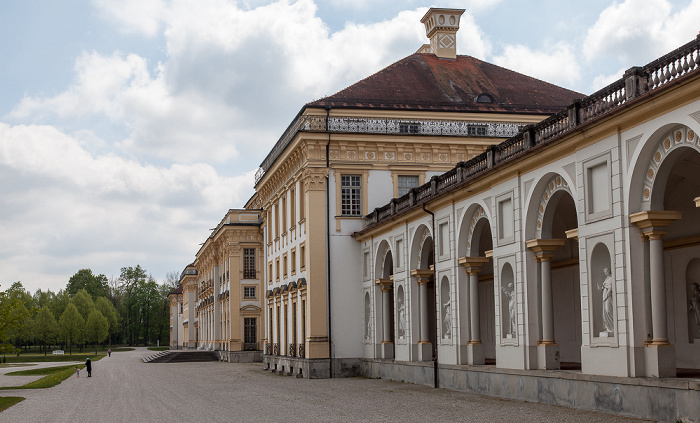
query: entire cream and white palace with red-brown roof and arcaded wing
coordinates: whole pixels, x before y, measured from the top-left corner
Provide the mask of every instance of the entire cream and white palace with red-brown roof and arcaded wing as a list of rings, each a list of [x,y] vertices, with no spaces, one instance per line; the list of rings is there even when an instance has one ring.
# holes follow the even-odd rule
[[[700,418],[700,38],[585,97],[457,55],[463,12],[302,107],[183,271],[176,345]]]

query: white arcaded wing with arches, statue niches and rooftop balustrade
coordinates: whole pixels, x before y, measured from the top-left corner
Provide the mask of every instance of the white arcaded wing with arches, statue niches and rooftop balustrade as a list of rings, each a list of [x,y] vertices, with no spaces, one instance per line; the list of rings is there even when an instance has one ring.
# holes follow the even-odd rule
[[[366,216],[363,373],[700,417],[699,58],[700,37]]]

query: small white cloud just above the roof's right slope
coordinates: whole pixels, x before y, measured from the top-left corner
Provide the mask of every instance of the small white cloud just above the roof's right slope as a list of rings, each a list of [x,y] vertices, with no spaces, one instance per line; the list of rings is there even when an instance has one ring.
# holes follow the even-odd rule
[[[546,50],[532,50],[524,45],[507,45],[493,63],[534,78],[571,87],[581,77],[572,46],[559,42]]]

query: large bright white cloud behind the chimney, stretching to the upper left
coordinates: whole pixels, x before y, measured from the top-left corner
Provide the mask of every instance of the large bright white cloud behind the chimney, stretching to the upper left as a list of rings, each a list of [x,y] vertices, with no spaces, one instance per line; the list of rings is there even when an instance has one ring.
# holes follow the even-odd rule
[[[49,123],[54,117],[63,125],[106,119],[125,134],[118,147],[134,157],[218,163],[246,153],[262,158],[303,104],[427,41],[418,23],[426,8],[383,22],[348,22],[331,32],[311,0],[254,8],[225,0],[95,4],[122,29],[162,36],[166,57],[149,63],[133,53],[85,52],[70,87],[54,97],[28,95],[8,118]],[[489,51],[469,14],[459,45],[474,56]]]

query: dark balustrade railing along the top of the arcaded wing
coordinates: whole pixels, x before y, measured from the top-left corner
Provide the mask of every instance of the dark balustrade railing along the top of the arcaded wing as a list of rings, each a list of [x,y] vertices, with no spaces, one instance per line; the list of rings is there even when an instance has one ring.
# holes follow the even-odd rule
[[[644,67],[634,67],[622,79],[598,92],[577,100],[561,112],[536,125],[527,125],[517,135],[493,145],[452,170],[431,178],[430,182],[413,188],[408,194],[392,199],[363,218],[363,227],[391,219],[413,207],[429,201],[498,165],[527,153],[531,148],[551,142],[582,125],[617,111],[627,103],[663,88],[700,69],[700,35],[678,49],[654,60]]]

